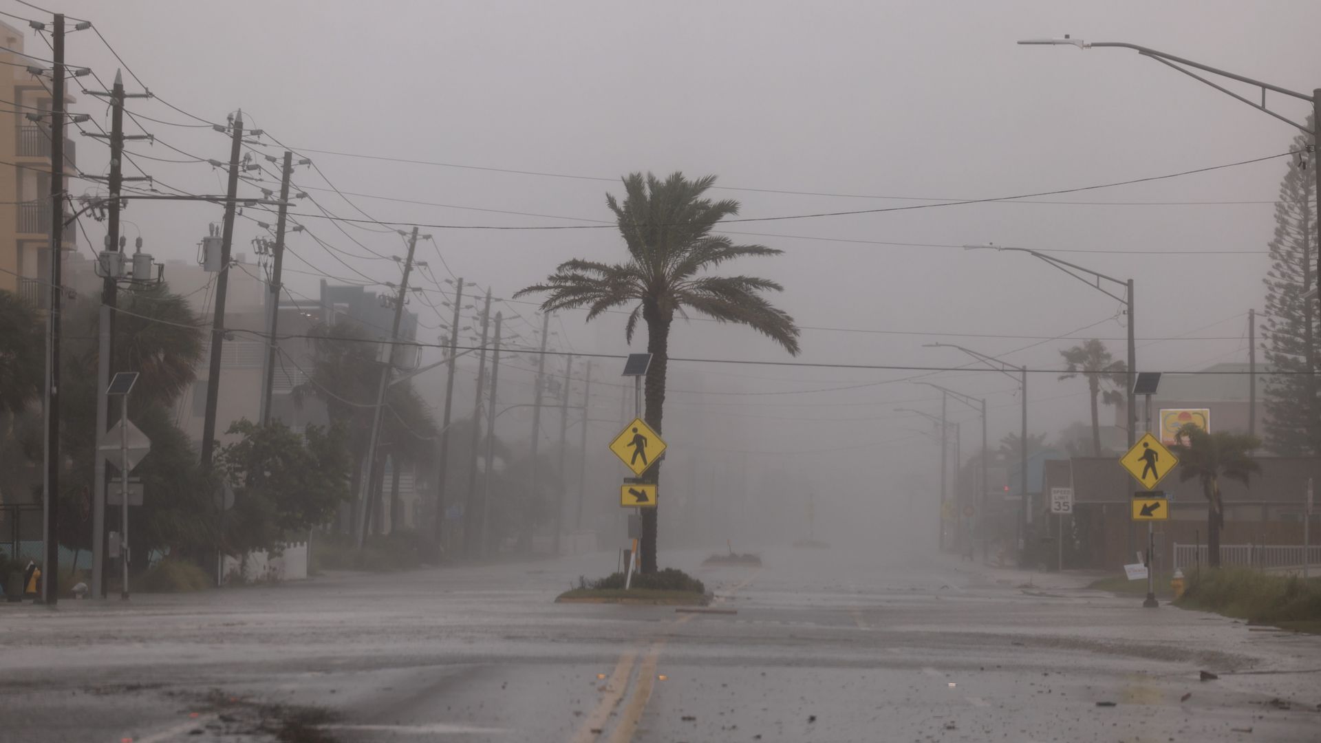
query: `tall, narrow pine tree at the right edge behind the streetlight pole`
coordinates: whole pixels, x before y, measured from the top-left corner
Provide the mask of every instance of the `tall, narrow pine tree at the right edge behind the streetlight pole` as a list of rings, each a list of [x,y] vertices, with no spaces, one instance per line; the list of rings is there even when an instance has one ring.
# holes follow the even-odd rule
[[[1313,126],[1308,118],[1308,127]],[[1280,456],[1313,456],[1321,452],[1317,426],[1317,385],[1309,370],[1316,356],[1313,316],[1303,299],[1316,286],[1316,155],[1308,152],[1314,137],[1299,135],[1275,204],[1275,237],[1271,238],[1271,268],[1266,274],[1266,312],[1262,348],[1266,362],[1280,375],[1266,377],[1266,446]],[[1308,350],[1312,353],[1309,354]],[[1313,358],[1309,358],[1312,356]]]

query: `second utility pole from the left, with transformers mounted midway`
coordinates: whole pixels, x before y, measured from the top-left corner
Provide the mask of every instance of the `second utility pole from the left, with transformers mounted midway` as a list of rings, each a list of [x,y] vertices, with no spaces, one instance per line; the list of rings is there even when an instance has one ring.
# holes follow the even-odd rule
[[[124,141],[129,139],[151,139],[151,135],[124,136],[124,99],[149,98],[149,93],[124,93],[124,78],[115,70],[115,85],[108,91],[87,91],[89,95],[103,95],[110,98],[110,135],[87,134],[92,137],[106,137],[110,144],[110,176],[106,178],[110,196],[106,202],[106,247],[110,254],[122,251],[119,237],[119,209],[120,190],[125,180],[139,181],[145,177],[124,178],[123,152]],[[115,308],[119,303],[116,280],[123,276],[123,258],[119,255],[106,255],[100,262],[100,271],[104,274],[100,284],[99,309],[99,337],[96,348],[96,440],[110,427],[110,397],[106,389],[110,385],[110,374],[115,368],[112,354],[115,348]],[[106,598],[106,480],[110,463],[99,460],[92,468],[92,526],[91,526],[91,595]]]

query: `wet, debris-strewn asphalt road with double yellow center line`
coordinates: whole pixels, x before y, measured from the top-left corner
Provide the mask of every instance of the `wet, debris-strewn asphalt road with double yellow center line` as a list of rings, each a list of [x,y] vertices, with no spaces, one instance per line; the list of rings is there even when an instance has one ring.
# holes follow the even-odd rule
[[[951,558],[704,555],[662,563],[720,613],[552,603],[609,554],[0,606],[0,740],[1321,739],[1321,637]]]

